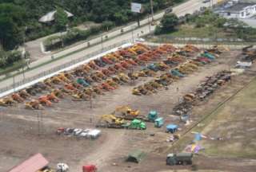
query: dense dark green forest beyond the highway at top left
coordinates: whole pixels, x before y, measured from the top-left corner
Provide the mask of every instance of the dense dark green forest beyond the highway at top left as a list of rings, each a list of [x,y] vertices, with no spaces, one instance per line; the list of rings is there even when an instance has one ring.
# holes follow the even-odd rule
[[[154,0],[154,10],[181,1]],[[144,15],[150,12],[150,0],[0,0],[0,43],[4,49],[14,49],[24,41],[24,36],[31,40],[62,30],[63,25],[38,22],[42,15],[58,8],[74,14],[70,25],[86,21],[110,21],[122,25],[134,19],[130,2],[142,3]]]

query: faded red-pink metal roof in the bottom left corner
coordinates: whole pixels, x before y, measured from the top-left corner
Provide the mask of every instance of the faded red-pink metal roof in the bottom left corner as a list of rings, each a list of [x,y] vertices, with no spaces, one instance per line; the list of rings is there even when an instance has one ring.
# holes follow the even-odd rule
[[[36,172],[48,164],[49,162],[42,156],[42,154],[35,154],[20,165],[14,166],[9,172]]]

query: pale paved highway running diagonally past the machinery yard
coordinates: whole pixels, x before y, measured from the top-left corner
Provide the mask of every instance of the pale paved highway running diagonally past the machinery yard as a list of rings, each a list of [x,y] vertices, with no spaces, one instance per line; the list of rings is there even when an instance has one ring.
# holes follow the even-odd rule
[[[214,0],[214,3],[217,3],[217,0]],[[182,3],[179,6],[174,7],[174,13],[177,14],[178,16],[182,16],[185,14],[192,14],[195,10],[199,10],[200,7],[202,6],[209,6],[209,3],[202,3],[202,0],[190,0],[188,2]],[[162,18],[164,13],[160,13],[160,14],[156,14],[154,15],[154,19],[160,19]],[[62,65],[62,64],[66,64],[69,61],[74,61],[80,57],[84,57],[86,54],[89,53],[93,53],[95,51],[98,51],[99,49],[102,49],[103,47],[106,46],[110,46],[110,45],[114,45],[118,42],[122,42],[122,41],[126,41],[126,40],[131,40],[132,37],[140,37],[142,35],[148,34],[150,33],[150,31],[154,30],[154,26],[149,25],[149,20],[145,19],[141,21],[141,25],[144,25],[140,28],[137,28],[137,22],[134,22],[131,25],[127,25],[126,27],[123,28],[124,32],[126,33],[122,33],[120,32],[120,30],[114,30],[113,32],[110,33],[104,33],[103,37],[105,37],[106,35],[109,37],[109,40],[104,41],[103,44],[98,44],[99,42],[102,41],[102,37],[96,37],[93,40],[90,40],[90,47],[85,49],[87,47],[87,42],[84,42],[80,45],[76,45],[74,47],[71,47],[70,49],[66,49],[63,50],[62,52],[59,53],[55,53],[54,57],[58,58],[58,57],[62,57],[62,56],[66,56],[69,53],[72,52],[76,52],[77,53],[73,53],[71,55],[68,55],[58,61],[53,61],[50,64],[47,65],[43,65],[41,67],[38,68],[34,68],[33,70],[27,71],[25,72],[25,77],[32,77],[32,76],[36,76],[39,73],[45,72],[50,70],[51,68],[54,68],[58,65]],[[111,37],[114,37],[113,39],[111,39]],[[96,45],[94,45],[96,44]],[[79,49],[83,49],[81,51],[79,51]],[[46,61],[50,61],[51,57],[50,55],[46,55],[46,57],[41,58],[38,61],[34,61],[33,63],[30,64],[30,68],[40,65],[42,63],[45,63]],[[21,81],[23,80],[23,75],[19,74],[17,76],[15,76],[15,82]],[[6,79],[6,80],[2,80],[0,82],[0,89],[1,88],[5,88],[6,86],[10,86],[11,84],[13,84],[13,77]]]

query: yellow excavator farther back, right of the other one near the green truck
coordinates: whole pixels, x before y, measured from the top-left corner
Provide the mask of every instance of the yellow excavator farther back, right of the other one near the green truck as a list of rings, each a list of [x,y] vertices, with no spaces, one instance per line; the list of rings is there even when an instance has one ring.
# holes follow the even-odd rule
[[[118,116],[122,119],[143,119],[142,116],[139,115],[140,112],[138,110],[134,110],[129,106],[120,106],[115,108],[113,115]]]

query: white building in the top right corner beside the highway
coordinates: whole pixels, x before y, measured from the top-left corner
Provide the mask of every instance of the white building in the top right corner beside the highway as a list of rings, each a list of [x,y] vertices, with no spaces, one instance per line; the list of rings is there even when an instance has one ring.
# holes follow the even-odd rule
[[[246,19],[256,15],[256,3],[230,2],[218,10],[218,14],[224,18]]]

